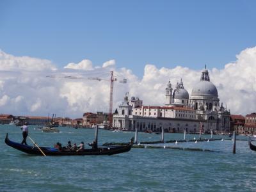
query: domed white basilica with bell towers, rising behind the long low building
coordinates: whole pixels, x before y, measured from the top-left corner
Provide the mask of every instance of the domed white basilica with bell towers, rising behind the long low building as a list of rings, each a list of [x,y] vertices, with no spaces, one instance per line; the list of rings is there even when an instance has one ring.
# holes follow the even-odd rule
[[[191,97],[184,88],[182,79],[175,86],[172,93],[172,84],[170,81],[166,87],[166,106],[182,106],[184,108],[195,109],[198,120],[215,120],[217,127],[221,130],[229,129],[230,111],[220,105],[218,90],[211,83],[209,72],[206,69],[202,71],[200,81],[193,87]]]

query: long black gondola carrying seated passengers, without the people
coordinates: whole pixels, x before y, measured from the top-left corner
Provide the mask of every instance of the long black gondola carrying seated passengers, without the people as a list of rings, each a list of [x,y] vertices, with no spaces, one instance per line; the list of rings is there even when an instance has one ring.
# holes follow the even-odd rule
[[[42,153],[36,146],[30,146],[30,145],[22,145],[20,143],[13,142],[9,140],[8,133],[6,134],[5,138],[6,145],[9,145],[10,147],[13,147],[17,150],[20,150],[22,152],[25,152],[27,154],[32,155],[40,155],[42,156]],[[124,152],[128,152],[131,150],[133,144],[133,138],[131,139],[130,143],[127,143],[127,145],[120,146],[120,145],[112,145],[112,146],[102,146],[97,147],[96,149],[84,149],[81,152],[72,152],[68,150],[58,150],[53,147],[40,147],[40,149],[44,152],[46,156],[90,156],[90,155],[115,155],[120,154]]]

